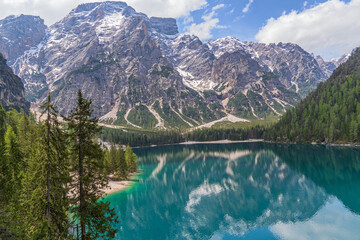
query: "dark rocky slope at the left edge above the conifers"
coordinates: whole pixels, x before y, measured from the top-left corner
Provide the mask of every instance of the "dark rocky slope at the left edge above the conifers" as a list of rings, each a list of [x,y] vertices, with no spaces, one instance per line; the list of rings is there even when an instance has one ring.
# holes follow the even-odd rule
[[[5,109],[12,106],[26,112],[29,112],[30,107],[30,103],[25,100],[24,85],[21,79],[6,65],[2,54],[0,54],[0,104]]]

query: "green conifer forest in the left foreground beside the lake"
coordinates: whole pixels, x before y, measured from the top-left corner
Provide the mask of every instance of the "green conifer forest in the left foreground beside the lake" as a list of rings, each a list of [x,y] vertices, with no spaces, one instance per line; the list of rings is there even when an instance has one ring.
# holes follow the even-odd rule
[[[102,200],[108,175],[137,171],[128,146],[103,150],[91,100],[78,92],[64,122],[50,95],[41,121],[0,106],[0,239],[112,239],[117,216]]]

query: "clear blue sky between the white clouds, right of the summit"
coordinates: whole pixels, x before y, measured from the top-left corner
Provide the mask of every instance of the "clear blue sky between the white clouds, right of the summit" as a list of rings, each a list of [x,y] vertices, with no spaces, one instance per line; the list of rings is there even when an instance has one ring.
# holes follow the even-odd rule
[[[303,11],[326,0],[254,0],[247,12],[243,10],[248,5],[248,0],[209,0],[207,2],[204,8],[191,12],[190,16],[193,17],[194,23],[199,24],[204,21],[201,17],[210,12],[212,7],[224,4],[224,7],[216,11],[219,25],[224,28],[212,29],[211,38],[233,36],[243,41],[255,41],[255,35],[269,18],[278,18],[284,12],[289,13],[292,10]],[[184,24],[185,19],[186,17],[178,18],[181,32],[187,32],[188,24]]]

